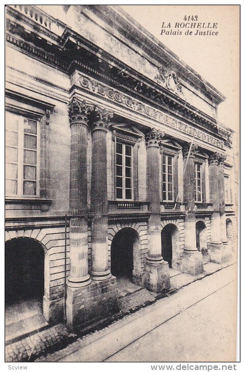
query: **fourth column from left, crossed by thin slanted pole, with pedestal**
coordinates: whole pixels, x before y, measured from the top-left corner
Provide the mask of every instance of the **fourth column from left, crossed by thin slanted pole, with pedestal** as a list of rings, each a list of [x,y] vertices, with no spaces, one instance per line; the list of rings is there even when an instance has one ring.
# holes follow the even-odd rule
[[[186,203],[186,218],[184,222],[184,252],[181,271],[190,275],[203,272],[202,253],[196,243],[195,214],[195,151],[198,146],[188,144],[183,147],[184,160],[184,202]]]

